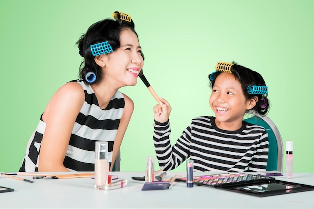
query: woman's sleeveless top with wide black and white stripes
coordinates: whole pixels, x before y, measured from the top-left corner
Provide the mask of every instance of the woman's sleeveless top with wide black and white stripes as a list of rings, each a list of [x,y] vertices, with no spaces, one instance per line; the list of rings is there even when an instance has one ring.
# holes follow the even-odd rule
[[[124,97],[117,91],[105,109],[100,109],[96,95],[89,84],[75,80],[82,85],[85,102],[78,114],[69,146],[64,159],[64,166],[70,171],[94,171],[95,142],[108,141],[108,159],[112,160],[115,136],[124,111]],[[38,171],[38,156],[46,123],[42,120],[31,136],[20,172]]]

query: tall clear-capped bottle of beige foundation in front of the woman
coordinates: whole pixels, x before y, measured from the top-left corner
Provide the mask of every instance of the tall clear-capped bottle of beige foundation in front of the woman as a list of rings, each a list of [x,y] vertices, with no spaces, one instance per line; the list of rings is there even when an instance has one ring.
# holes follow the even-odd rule
[[[108,174],[108,142],[97,141],[95,143],[95,189],[106,189]]]

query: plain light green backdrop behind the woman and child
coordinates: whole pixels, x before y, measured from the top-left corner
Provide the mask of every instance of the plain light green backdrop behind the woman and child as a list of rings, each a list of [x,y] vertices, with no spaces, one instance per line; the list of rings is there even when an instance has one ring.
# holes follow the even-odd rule
[[[268,117],[284,147],[286,140],[294,142],[294,172],[314,172],[311,0],[1,0],[1,171],[18,171],[47,102],[61,85],[78,78],[75,42],[116,10],[132,16],[145,54],[144,74],[172,106],[173,143],[192,118],[214,115],[207,76],[218,61],[236,61],[266,80]],[[141,172],[146,156],[155,156],[156,102],[140,79],[121,92],[135,103],[121,146],[121,171]],[[184,170],[184,164],[176,169]]]

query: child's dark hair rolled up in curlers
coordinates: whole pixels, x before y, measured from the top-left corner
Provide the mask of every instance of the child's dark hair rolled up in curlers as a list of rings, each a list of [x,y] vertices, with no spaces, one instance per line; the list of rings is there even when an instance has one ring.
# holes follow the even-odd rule
[[[266,83],[261,76],[256,71],[253,71],[249,68],[243,67],[241,65],[236,64],[233,62],[233,65],[231,66],[231,72],[235,76],[236,80],[238,80],[241,84],[243,94],[246,99],[254,99],[255,96],[258,97],[258,101],[256,102],[255,107],[253,110],[258,112],[261,115],[265,115],[268,112],[269,109],[269,100],[267,99],[268,94],[249,94],[247,91],[248,86],[266,86]],[[209,83],[211,87],[213,88],[215,84],[215,80],[217,76],[222,73],[221,71],[216,71],[208,76]]]

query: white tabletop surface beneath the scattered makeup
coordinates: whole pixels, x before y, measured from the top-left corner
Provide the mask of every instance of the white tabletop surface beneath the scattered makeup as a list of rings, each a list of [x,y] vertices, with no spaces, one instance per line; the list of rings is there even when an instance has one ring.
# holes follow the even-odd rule
[[[206,186],[187,188],[184,182],[174,182],[169,190],[141,191],[144,182],[131,177],[141,177],[144,172],[111,174],[128,180],[127,186],[104,191],[95,190],[91,178],[33,180],[32,176],[18,176],[35,181],[28,183],[0,177],[0,186],[15,190],[0,193],[0,208],[314,208],[314,191],[260,198]],[[185,176],[167,172],[166,178],[175,174]],[[198,174],[204,173],[194,173]],[[314,185],[314,173],[277,179]]]

